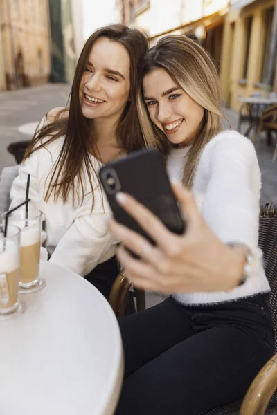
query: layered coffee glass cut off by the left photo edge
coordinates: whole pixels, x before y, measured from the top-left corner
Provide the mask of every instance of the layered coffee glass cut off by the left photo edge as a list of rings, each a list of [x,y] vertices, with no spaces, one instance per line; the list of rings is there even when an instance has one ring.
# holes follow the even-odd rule
[[[4,237],[0,225],[0,320],[21,315],[26,306],[19,301],[20,229],[8,225]]]

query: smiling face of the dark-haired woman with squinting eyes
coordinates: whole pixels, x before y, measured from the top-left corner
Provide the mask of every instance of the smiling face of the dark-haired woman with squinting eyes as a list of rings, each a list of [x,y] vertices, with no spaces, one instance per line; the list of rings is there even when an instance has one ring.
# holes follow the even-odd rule
[[[125,47],[107,37],[96,40],[80,84],[82,115],[117,122],[129,98],[130,61]]]

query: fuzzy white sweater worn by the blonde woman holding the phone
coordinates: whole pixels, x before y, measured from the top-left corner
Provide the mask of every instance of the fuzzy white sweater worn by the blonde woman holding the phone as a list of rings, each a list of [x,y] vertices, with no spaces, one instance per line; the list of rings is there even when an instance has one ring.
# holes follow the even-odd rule
[[[181,181],[189,148],[170,152],[170,178]],[[257,260],[242,286],[231,291],[175,294],[179,302],[211,304],[269,291],[258,248],[260,187],[260,168],[248,138],[237,131],[222,131],[204,147],[192,188],[202,216],[222,241],[244,243]]]

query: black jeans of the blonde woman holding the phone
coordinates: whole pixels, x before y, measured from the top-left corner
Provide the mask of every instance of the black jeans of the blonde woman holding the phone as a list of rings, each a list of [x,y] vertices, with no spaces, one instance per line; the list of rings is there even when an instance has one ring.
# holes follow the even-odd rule
[[[119,320],[125,380],[116,415],[198,415],[244,396],[274,353],[268,295],[217,305],[173,298]]]

